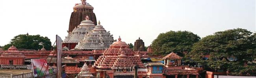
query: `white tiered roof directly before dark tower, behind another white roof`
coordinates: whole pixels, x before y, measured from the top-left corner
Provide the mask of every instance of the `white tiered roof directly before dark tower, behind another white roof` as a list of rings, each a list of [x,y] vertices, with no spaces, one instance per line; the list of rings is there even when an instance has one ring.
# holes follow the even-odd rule
[[[68,47],[69,50],[74,49],[75,46],[83,40],[84,36],[94,28],[94,22],[90,20],[89,16],[86,16],[85,20],[83,20],[77,27],[74,27],[72,32],[69,32],[67,37],[65,37],[62,47]]]

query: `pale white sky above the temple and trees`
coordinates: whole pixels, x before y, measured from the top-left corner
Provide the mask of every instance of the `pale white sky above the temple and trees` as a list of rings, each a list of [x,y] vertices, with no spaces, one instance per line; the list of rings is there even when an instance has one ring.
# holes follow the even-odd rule
[[[0,46],[19,34],[67,36],[72,7],[80,0],[0,0]],[[149,46],[160,34],[187,30],[206,37],[233,28],[256,31],[255,0],[87,0],[96,19],[122,41]]]

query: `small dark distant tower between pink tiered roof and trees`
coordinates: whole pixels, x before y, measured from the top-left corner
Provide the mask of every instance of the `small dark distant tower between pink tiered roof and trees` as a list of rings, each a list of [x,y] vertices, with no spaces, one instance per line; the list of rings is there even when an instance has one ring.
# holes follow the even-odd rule
[[[134,51],[146,51],[144,42],[140,37],[134,42]]]

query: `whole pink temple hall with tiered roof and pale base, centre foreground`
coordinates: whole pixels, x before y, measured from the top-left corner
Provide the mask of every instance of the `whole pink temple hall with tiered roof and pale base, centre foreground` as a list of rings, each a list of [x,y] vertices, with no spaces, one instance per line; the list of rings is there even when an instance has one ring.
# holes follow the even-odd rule
[[[97,76],[100,78],[133,78],[135,71],[138,72],[139,78],[147,75],[147,69],[140,57],[135,56],[134,51],[128,44],[122,42],[120,37],[103,52],[93,66],[96,67]],[[134,66],[138,66],[139,69],[135,69]]]

